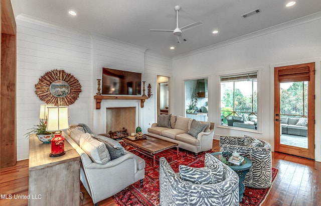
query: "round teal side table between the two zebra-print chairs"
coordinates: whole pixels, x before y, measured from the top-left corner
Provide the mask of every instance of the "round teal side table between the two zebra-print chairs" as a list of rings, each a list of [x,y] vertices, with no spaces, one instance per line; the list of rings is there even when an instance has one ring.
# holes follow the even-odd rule
[[[239,197],[240,197],[240,202],[242,201],[243,198],[243,193],[245,190],[245,186],[243,184],[243,181],[245,179],[246,173],[250,170],[252,166],[252,161],[249,160],[248,158],[244,157],[244,161],[242,162],[241,165],[233,164],[228,161],[229,157],[232,156],[232,153],[229,152],[214,152],[211,153],[214,157],[219,159],[221,162],[229,166],[231,169],[233,169],[238,175],[239,175]]]

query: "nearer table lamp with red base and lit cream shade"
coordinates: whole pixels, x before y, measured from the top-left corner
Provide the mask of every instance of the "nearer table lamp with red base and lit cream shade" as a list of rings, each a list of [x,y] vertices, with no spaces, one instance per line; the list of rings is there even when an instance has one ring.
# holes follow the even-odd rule
[[[50,157],[59,157],[65,154],[65,138],[60,130],[68,129],[68,107],[48,107],[48,132],[55,132],[51,140]]]

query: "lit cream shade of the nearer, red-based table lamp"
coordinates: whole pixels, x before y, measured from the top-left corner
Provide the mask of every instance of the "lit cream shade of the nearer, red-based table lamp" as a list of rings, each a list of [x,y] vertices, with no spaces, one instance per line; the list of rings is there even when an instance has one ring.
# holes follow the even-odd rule
[[[48,132],[68,129],[68,107],[48,107]]]

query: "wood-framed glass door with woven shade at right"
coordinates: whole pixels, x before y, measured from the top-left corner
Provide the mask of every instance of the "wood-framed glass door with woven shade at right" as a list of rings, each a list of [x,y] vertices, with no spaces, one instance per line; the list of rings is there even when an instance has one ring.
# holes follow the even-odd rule
[[[274,68],[274,150],[314,159],[314,63]]]

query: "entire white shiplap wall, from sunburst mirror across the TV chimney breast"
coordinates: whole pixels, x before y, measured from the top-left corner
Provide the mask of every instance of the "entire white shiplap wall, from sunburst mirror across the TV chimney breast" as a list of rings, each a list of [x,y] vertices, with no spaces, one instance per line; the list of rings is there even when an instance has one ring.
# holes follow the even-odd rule
[[[69,106],[69,124],[85,123],[94,131],[98,110],[94,108],[93,96],[102,67],[141,72],[146,92],[150,83],[153,96],[156,96],[156,76],[172,76],[172,58],[150,53],[145,48],[25,15],[18,16],[16,22],[18,160],[29,157],[29,140],[24,134],[39,123],[39,105],[44,102],[35,94],[35,84],[47,71],[63,69],[79,80],[82,92]],[[140,109],[139,124],[144,132],[156,120],[155,100],[155,97],[146,100],[145,107]]]

